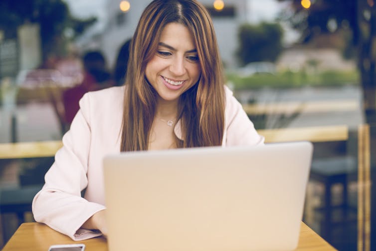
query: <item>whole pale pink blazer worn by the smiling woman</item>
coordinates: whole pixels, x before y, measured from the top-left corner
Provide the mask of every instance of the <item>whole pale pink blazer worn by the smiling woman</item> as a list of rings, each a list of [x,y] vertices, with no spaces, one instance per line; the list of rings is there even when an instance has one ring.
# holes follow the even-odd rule
[[[63,147],[45,175],[45,184],[32,202],[37,222],[45,223],[75,241],[100,236],[80,229],[96,212],[105,209],[102,159],[120,152],[124,86],[88,92],[63,136]],[[264,143],[241,104],[225,87],[225,130],[222,146]],[[181,138],[180,123],[175,134]],[[86,189],[86,190],[85,190]],[[81,191],[85,190],[84,197]],[[121,192],[121,191],[119,191]]]

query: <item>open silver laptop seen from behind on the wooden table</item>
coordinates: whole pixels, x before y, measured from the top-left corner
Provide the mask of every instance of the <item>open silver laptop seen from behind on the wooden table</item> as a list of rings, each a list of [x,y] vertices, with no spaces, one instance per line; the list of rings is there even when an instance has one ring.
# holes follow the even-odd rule
[[[106,156],[110,251],[294,250],[309,142]]]

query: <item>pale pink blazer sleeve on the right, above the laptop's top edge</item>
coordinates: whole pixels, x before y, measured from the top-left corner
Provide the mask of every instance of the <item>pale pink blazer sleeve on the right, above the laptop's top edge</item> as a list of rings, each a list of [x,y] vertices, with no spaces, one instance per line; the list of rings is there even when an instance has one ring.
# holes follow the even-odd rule
[[[248,118],[242,105],[225,86],[226,94],[226,130],[224,144],[226,146],[264,144],[265,138],[259,135],[252,121]]]

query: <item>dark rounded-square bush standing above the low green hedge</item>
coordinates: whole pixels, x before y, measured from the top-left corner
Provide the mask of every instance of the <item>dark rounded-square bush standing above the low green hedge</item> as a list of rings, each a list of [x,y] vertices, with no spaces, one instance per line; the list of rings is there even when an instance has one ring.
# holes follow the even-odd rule
[[[236,55],[243,65],[256,61],[274,62],[282,51],[282,36],[283,29],[278,23],[242,24]]]

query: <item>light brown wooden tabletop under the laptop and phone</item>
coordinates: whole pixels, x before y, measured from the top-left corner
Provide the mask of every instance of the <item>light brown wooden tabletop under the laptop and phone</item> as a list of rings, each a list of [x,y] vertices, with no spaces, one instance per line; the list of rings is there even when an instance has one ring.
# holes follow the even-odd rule
[[[44,224],[23,223],[10,238],[2,251],[48,251],[54,244],[83,243],[85,251],[107,251],[107,242],[103,237],[74,242]],[[297,251],[333,251],[324,239],[307,225],[302,223]]]

